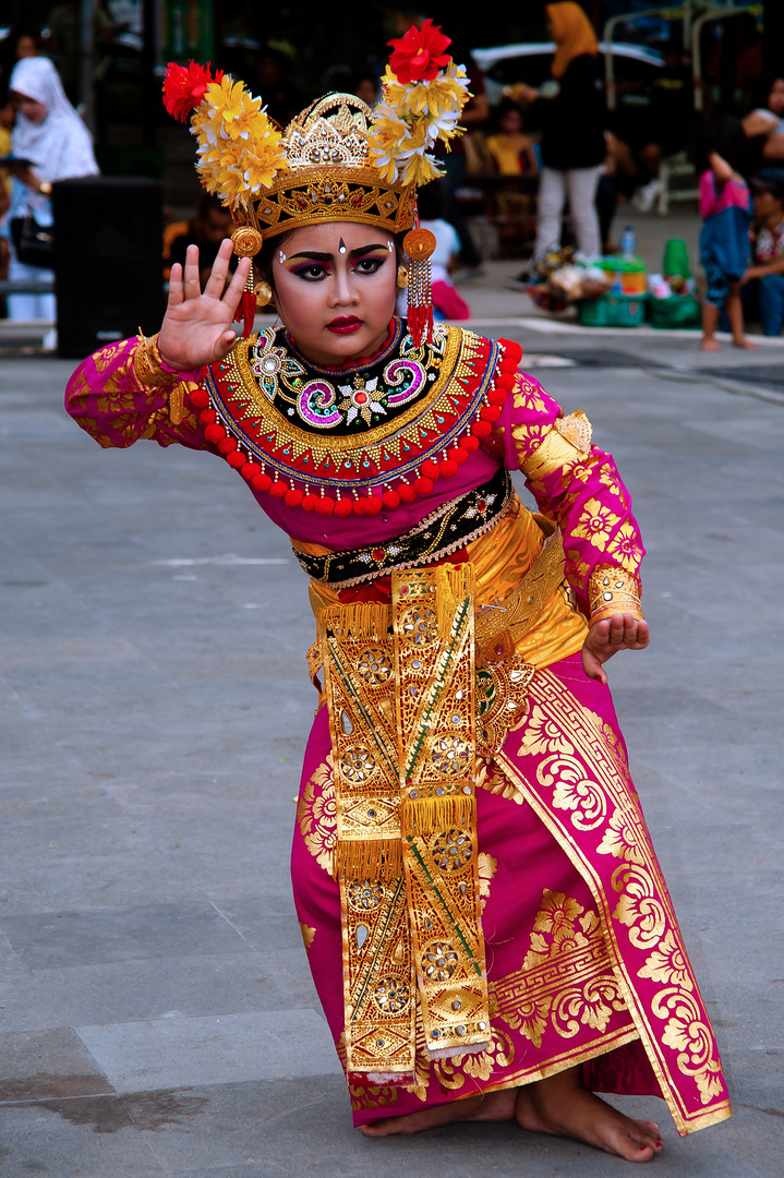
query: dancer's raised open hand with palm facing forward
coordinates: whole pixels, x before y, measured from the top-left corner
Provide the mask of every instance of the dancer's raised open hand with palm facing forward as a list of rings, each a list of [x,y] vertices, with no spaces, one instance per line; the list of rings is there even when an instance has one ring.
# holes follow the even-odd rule
[[[237,332],[232,329],[251,259],[242,258],[226,286],[232,243],[220,243],[207,285],[199,283],[199,247],[190,245],[185,272],[179,263],[172,266],[168,304],[158,336],[161,358],[178,372],[204,368],[228,356]]]

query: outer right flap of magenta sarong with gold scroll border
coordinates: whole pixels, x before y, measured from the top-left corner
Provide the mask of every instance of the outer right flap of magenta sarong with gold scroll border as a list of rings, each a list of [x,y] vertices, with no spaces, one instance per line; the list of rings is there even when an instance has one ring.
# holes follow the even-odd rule
[[[692,1132],[732,1111],[672,901],[629,786],[625,755],[617,739],[607,741],[606,729],[600,716],[543,670],[531,683],[531,712],[520,732],[517,756],[523,763],[503,753],[499,768],[591,887],[620,995],[678,1132]],[[532,754],[543,759],[526,776],[524,759]],[[610,886],[600,880],[591,852],[618,860]],[[660,987],[646,1005],[637,979]]]

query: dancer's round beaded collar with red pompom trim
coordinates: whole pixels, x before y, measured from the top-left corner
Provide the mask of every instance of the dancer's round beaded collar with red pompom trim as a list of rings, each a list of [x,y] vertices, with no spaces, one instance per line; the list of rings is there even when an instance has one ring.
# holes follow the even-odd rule
[[[517,344],[438,326],[416,348],[403,320],[370,363],[318,369],[286,332],[238,340],[207,370],[201,421],[254,490],[330,515],[376,515],[457,472],[512,386]]]

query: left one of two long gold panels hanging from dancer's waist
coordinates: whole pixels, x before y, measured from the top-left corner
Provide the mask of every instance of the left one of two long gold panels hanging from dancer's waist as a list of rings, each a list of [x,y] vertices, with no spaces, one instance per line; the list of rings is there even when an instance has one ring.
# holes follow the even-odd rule
[[[400,840],[388,607],[319,613],[337,805],[346,1070],[413,1074],[416,975]]]

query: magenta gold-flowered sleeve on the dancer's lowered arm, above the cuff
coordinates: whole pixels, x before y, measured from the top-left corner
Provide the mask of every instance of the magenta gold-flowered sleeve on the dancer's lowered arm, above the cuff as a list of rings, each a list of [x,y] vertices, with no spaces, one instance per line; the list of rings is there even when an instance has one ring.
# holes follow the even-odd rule
[[[494,449],[511,470],[524,472],[539,510],[559,525],[566,578],[591,616],[594,571],[611,568],[636,577],[645,555],[612,457],[591,444],[584,413],[564,417],[558,403],[524,375],[496,425]],[[629,613],[636,610],[630,605]]]

